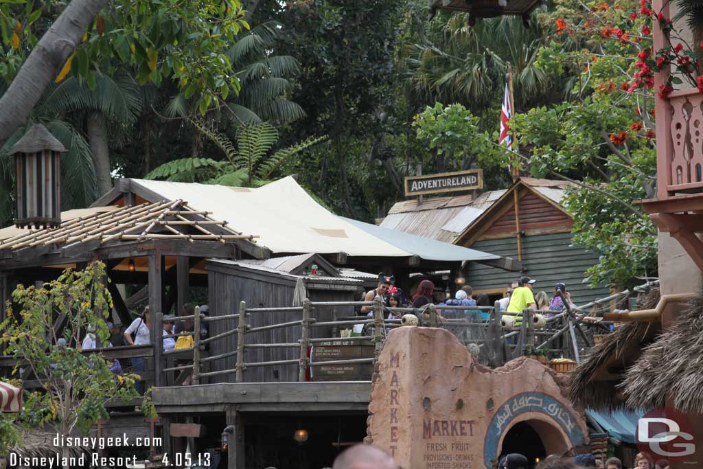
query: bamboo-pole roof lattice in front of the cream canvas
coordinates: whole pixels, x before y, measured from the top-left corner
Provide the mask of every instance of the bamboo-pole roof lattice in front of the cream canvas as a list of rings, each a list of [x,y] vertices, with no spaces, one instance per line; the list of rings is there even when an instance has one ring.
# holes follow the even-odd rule
[[[183,200],[115,207],[65,221],[57,229],[23,230],[0,241],[0,251],[51,245],[75,245],[116,240],[232,240],[254,242],[257,236],[230,229],[226,221],[210,218],[209,212],[193,210]],[[217,230],[213,228],[217,227]]]

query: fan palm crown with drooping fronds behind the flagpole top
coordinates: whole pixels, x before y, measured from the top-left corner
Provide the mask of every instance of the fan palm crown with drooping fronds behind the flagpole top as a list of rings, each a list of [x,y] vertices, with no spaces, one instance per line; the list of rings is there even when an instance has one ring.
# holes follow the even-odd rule
[[[522,18],[503,16],[470,27],[463,14],[441,18],[446,15],[427,25],[427,44],[407,51],[409,81],[425,103],[462,103],[482,115],[501,102],[508,63],[516,108],[564,98],[572,88],[570,77],[549,76],[535,66],[540,47],[550,39],[537,21],[524,28]]]

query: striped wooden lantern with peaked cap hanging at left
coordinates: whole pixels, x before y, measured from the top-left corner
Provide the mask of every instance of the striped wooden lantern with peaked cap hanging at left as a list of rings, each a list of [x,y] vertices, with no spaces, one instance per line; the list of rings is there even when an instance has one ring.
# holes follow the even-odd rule
[[[15,226],[56,228],[61,224],[60,141],[33,125],[10,149],[15,157]]]

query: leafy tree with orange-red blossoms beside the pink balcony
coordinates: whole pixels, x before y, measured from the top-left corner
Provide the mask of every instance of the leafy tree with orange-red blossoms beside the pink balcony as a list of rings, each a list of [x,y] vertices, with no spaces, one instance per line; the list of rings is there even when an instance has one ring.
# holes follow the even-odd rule
[[[538,62],[547,72],[580,71],[574,99],[511,122],[531,174],[578,180],[564,203],[574,243],[601,255],[588,269],[593,284],[629,285],[657,273],[657,231],[635,203],[656,193],[654,103],[646,84],[632,86],[652,47],[652,20],[640,8],[632,0],[558,1],[541,17],[556,30]],[[574,41],[588,49],[572,51]]]

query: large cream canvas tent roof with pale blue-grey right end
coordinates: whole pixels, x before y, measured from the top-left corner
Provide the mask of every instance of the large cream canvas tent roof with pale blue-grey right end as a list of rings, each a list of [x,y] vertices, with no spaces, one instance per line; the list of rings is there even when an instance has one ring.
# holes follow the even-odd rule
[[[345,252],[359,257],[412,257],[425,260],[475,261],[498,256],[446,243],[419,244],[406,238],[387,238],[370,233],[358,222],[337,217],[301,188],[295,179],[285,177],[260,188],[233,188],[207,184],[131,179],[135,193],[146,189],[151,198],[183,199],[195,210],[208,210],[212,217],[228,222],[232,229],[259,236],[257,244],[275,254]],[[155,201],[155,200],[150,200]]]

